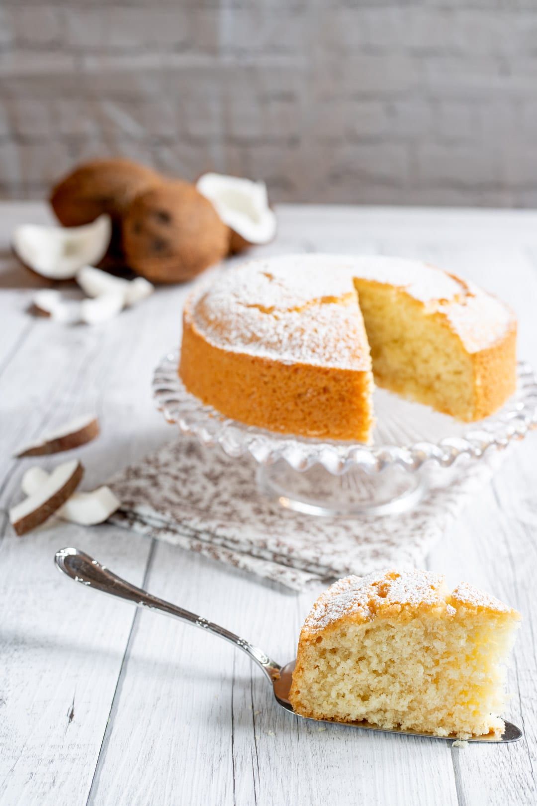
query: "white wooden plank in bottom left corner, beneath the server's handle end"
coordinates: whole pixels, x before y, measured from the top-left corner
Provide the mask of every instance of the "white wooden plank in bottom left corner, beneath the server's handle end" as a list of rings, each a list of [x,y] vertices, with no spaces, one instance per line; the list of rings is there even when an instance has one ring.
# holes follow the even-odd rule
[[[0,546],[0,801],[83,804],[109,717],[133,613],[78,596],[52,564],[81,542],[141,583],[148,541],[63,524]]]

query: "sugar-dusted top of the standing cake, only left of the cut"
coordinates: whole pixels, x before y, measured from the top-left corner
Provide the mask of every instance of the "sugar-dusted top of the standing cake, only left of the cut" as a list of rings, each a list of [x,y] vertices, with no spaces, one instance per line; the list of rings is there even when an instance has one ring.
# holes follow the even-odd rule
[[[288,364],[371,368],[352,276],[338,258],[243,264],[195,292],[187,315],[204,339],[228,351]]]

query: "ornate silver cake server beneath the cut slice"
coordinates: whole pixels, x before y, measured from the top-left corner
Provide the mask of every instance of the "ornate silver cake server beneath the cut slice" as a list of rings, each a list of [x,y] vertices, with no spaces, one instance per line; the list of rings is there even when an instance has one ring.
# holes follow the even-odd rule
[[[295,667],[295,661],[292,660],[286,663],[285,666],[280,666],[269,656],[260,650],[258,646],[250,644],[245,638],[239,638],[238,635],[230,633],[229,629],[220,627],[214,624],[213,621],[208,621],[206,618],[196,616],[195,613],[190,613],[177,605],[171,605],[170,602],[159,599],[157,596],[152,596],[151,593],[143,591],[142,588],[136,588],[130,582],[122,580],[121,577],[109,571],[107,567],[97,563],[96,559],[85,554],[76,548],[64,548],[56,552],[54,558],[56,567],[70,579],[75,582],[80,582],[87,588],[94,588],[97,591],[108,593],[110,596],[117,596],[118,599],[125,599],[132,602],[138,607],[147,608],[148,610],[156,611],[157,613],[164,613],[166,616],[173,616],[180,621],[186,621],[188,624],[193,624],[196,627],[206,630],[219,638],[225,638],[225,641],[238,646],[243,652],[246,652],[250,660],[254,661],[262,670],[263,674],[269,680],[272,686],[272,691],[275,696],[276,702],[285,708],[286,711],[293,712],[293,707],[289,702],[289,691],[291,689],[291,675]],[[299,714],[297,714],[299,716]],[[302,719],[306,717],[301,717]],[[321,721],[321,720],[316,720]],[[329,721],[329,720],[322,720]],[[398,730],[378,728],[373,725],[368,725],[366,722],[345,722],[337,723],[349,725],[351,728],[359,728],[361,730],[376,730],[381,733],[401,733],[404,736],[423,736],[429,739],[444,739],[448,742],[453,742],[456,738],[454,736],[433,736],[432,733],[417,733],[414,730]],[[521,729],[517,728],[511,722],[506,721],[506,729],[501,737],[481,736],[477,738],[468,739],[469,742],[516,742],[523,736]]]

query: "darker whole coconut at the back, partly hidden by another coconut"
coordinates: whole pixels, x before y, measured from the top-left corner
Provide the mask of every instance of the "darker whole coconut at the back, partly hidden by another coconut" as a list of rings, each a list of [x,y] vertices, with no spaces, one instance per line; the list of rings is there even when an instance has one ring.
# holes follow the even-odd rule
[[[118,223],[137,193],[163,181],[159,173],[132,160],[94,160],[64,177],[50,197],[64,226],[81,226],[103,213]]]

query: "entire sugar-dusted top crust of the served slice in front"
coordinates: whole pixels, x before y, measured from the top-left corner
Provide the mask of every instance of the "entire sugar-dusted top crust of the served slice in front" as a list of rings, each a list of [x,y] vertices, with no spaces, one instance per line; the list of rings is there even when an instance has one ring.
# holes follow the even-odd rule
[[[448,604],[447,604],[448,603]],[[472,585],[461,583],[450,595],[444,576],[432,571],[378,571],[366,576],[345,576],[316,600],[304,629],[316,634],[341,618],[370,621],[378,614],[399,609],[441,607],[448,617],[458,605],[509,613],[510,607]]]

